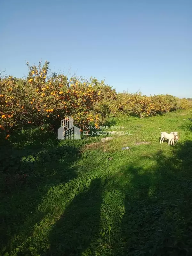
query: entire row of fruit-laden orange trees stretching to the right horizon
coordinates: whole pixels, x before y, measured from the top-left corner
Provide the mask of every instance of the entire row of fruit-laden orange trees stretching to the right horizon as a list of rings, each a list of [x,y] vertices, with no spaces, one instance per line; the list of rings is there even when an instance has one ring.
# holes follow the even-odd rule
[[[16,125],[47,123],[58,127],[67,116],[82,128],[90,122],[97,126],[121,112],[145,117],[190,107],[187,99],[168,94],[117,94],[93,77],[85,80],[75,76],[68,80],[63,74],[51,73],[48,61],[44,65],[27,65],[26,79],[0,78],[0,129],[4,132]]]

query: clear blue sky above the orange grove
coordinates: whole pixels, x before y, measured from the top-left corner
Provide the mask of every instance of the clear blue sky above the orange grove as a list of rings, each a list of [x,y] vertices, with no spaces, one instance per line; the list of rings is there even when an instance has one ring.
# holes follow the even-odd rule
[[[191,0],[1,0],[0,70],[25,61],[116,90],[192,97]]]

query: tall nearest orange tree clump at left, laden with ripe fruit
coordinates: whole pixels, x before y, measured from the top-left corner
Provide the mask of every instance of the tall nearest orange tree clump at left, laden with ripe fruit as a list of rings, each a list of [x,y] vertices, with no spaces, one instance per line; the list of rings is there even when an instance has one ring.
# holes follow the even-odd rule
[[[0,80],[1,125],[49,123],[58,125],[60,120],[72,116],[80,128],[93,122],[100,124],[111,111],[103,107],[116,97],[115,90],[99,82],[57,75],[49,72],[49,62],[42,66],[29,66],[25,80],[11,76]]]

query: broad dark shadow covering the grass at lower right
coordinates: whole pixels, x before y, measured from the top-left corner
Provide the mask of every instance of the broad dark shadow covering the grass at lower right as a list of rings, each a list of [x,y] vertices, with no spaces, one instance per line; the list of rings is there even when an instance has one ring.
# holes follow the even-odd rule
[[[152,156],[148,170],[124,167],[125,214],[112,255],[192,255],[192,142]],[[142,159],[141,159],[142,161]],[[121,187],[119,188],[121,189]]]

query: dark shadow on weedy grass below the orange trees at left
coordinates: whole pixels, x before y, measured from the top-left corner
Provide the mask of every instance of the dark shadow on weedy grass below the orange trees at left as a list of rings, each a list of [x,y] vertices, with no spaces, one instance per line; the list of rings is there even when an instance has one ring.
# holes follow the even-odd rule
[[[77,177],[71,166],[80,157],[77,148],[66,145],[34,152],[10,148],[9,153],[9,157],[1,155],[0,188],[0,249],[6,246],[7,252],[11,244],[30,236],[35,223],[50,212],[49,207],[44,212],[37,209],[47,191]]]

